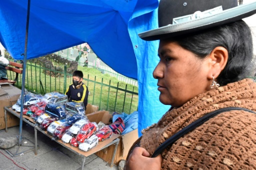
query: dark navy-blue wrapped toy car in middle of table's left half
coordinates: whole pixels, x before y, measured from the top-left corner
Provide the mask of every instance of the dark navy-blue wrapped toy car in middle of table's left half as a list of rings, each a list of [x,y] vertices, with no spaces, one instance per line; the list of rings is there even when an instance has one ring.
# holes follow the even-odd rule
[[[66,117],[66,113],[63,107],[56,104],[46,104],[44,111],[51,116],[57,117],[57,119],[63,119]]]

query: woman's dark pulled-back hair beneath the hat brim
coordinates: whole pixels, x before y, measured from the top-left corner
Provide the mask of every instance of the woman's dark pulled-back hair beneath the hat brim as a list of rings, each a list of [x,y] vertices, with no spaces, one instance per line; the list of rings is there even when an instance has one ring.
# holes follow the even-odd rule
[[[216,78],[220,85],[241,80],[250,73],[253,55],[252,37],[249,26],[243,20],[179,36],[174,38],[174,41],[202,59],[217,46],[226,48],[227,63]]]

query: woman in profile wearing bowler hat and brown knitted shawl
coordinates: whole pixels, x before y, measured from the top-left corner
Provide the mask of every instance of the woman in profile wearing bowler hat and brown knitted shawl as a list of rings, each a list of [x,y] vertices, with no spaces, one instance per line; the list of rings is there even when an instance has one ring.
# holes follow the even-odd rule
[[[256,169],[256,114],[245,110],[222,112],[150,157],[162,142],[211,111],[256,111],[256,84],[246,78],[255,73],[252,38],[241,20],[256,12],[256,2],[236,5],[237,0],[160,0],[159,28],[139,36],[160,40],[153,76],[159,100],[172,107],[143,130],[126,170]],[[185,21],[179,17],[184,15]]]

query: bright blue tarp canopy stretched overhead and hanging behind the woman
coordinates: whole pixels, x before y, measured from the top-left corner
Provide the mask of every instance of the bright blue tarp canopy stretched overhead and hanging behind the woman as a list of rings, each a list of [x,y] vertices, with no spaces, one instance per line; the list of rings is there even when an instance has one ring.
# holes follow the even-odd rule
[[[158,0],[31,0],[27,59],[88,42],[112,69],[138,80],[140,131],[169,108],[152,77],[158,41],[137,35],[157,27],[157,6]],[[0,42],[14,59],[23,59],[26,13],[27,0],[0,1]]]

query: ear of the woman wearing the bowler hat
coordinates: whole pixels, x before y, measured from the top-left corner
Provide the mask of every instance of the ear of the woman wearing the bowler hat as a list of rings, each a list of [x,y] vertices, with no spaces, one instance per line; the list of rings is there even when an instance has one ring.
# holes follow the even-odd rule
[[[227,49],[222,46],[215,47],[209,54],[208,59],[210,59],[210,71],[208,73],[208,78],[217,78],[220,72],[224,69],[228,58]]]

